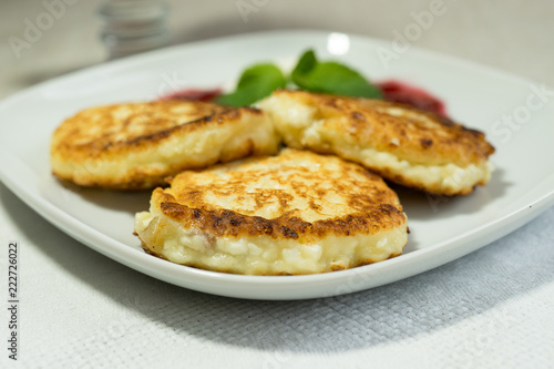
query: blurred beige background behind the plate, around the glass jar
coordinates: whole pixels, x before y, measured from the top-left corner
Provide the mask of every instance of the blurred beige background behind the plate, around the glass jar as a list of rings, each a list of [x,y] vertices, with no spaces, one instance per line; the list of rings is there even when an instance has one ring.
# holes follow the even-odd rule
[[[109,48],[101,38],[106,23],[99,13],[105,3],[105,0],[0,0],[0,99],[109,60]],[[554,85],[552,0],[166,0],[163,3],[168,44],[274,29],[329,30],[392,41],[396,32],[416,21],[417,14],[440,7],[443,13],[434,17],[432,25],[413,45]]]

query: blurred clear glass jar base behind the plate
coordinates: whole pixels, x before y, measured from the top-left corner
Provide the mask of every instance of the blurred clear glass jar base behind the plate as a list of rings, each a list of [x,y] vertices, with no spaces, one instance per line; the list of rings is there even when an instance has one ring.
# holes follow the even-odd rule
[[[100,10],[102,42],[110,59],[164,47],[170,41],[167,6],[156,0],[111,0]]]

